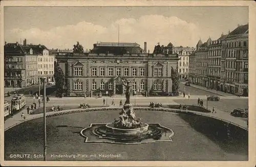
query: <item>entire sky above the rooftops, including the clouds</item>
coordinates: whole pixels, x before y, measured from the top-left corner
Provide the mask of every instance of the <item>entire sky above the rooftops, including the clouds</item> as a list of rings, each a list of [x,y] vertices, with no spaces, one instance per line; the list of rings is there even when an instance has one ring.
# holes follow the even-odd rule
[[[85,49],[93,44],[136,42],[152,52],[159,42],[196,46],[248,23],[248,7],[4,7],[4,40],[48,49]]]

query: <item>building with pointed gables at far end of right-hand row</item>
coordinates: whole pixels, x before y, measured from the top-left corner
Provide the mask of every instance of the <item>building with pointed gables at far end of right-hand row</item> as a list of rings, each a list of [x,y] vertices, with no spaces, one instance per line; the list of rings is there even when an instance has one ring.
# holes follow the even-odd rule
[[[195,84],[208,87],[209,79],[207,75],[208,66],[208,46],[211,43],[211,39],[202,43],[201,39],[197,43],[196,50],[196,82]]]

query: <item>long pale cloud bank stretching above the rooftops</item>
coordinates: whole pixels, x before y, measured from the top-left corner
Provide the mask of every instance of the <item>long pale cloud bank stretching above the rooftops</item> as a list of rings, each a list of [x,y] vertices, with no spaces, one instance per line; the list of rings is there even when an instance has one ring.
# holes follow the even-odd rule
[[[82,21],[77,25],[55,27],[46,31],[38,28],[28,30],[12,29],[6,31],[5,40],[16,42],[26,38],[28,43],[44,44],[49,49],[72,49],[73,44],[79,41],[84,48],[92,49],[97,41],[117,42],[118,25],[120,42],[137,42],[151,52],[157,42],[167,45],[172,42],[175,46],[195,46],[199,39],[199,28],[191,22],[178,17],[164,17],[162,15],[144,15],[138,19],[122,18],[110,22],[109,26],[94,25]]]

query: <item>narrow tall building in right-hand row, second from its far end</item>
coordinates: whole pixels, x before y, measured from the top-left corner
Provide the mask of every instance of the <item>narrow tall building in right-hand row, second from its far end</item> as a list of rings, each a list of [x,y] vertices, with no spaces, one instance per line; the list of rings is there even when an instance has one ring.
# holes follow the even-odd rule
[[[211,89],[221,90],[221,42],[226,38],[226,36],[227,35],[222,34],[219,39],[211,41],[208,46],[208,88]]]

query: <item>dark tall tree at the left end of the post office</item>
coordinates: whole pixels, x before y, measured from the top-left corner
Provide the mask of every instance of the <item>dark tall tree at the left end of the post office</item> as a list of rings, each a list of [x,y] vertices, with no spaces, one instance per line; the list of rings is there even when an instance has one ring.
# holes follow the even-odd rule
[[[59,96],[60,94],[62,95],[64,92],[63,86],[65,85],[65,75],[58,63],[55,63],[54,65],[54,79],[56,82],[56,96]]]

